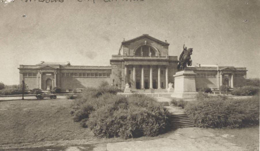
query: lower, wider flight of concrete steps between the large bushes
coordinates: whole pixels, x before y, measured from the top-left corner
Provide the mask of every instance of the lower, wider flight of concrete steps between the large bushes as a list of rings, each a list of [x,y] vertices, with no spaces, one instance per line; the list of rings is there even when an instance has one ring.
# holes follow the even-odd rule
[[[170,123],[172,128],[194,127],[187,114],[171,115]]]

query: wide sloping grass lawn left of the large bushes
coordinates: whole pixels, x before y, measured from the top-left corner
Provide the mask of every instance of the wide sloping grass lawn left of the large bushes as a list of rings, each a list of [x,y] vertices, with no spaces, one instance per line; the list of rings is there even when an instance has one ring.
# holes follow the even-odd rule
[[[71,119],[67,99],[0,102],[0,145],[93,137]]]

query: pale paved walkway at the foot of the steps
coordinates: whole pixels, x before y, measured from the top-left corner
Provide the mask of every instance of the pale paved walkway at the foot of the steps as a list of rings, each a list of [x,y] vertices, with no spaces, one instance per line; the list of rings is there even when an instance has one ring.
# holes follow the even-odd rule
[[[149,141],[108,143],[107,151],[239,151],[245,150],[206,129],[180,128],[166,138]]]

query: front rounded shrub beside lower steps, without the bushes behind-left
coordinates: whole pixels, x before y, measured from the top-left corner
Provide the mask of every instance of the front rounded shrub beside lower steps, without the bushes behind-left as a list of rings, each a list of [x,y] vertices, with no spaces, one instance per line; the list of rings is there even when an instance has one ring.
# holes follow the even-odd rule
[[[156,136],[170,127],[169,112],[153,98],[114,95],[108,100],[110,103],[92,112],[86,122],[97,137]]]

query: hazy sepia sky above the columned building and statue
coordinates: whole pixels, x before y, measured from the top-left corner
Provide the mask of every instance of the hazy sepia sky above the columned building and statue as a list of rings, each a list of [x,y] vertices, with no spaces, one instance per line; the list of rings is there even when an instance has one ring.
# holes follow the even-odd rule
[[[142,34],[167,40],[170,56],[179,57],[184,43],[193,47],[193,65],[260,75],[259,0],[1,0],[0,14],[6,85],[19,83],[19,64],[110,65],[123,39]]]

